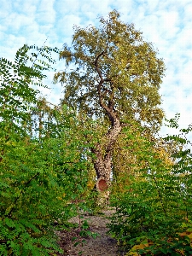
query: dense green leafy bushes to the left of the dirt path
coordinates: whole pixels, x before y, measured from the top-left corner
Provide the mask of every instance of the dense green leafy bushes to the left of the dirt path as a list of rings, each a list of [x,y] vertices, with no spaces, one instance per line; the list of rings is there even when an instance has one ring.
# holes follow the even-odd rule
[[[84,158],[86,144],[74,113],[67,106],[50,109],[52,119],[42,119],[41,136],[34,129],[33,113],[40,102],[42,72],[38,54],[51,62],[49,49],[38,54],[24,46],[12,63],[1,59],[0,121],[0,255],[54,255],[56,220],[62,227],[77,214],[84,198],[90,163]],[[48,54],[48,55],[46,55]],[[27,61],[32,61],[27,66]],[[48,109],[48,108],[46,108]],[[46,110],[47,111],[47,110]],[[48,111],[47,111],[48,113]],[[49,115],[47,115],[49,117]],[[77,132],[79,131],[79,133]],[[80,138],[80,139],[79,139]]]

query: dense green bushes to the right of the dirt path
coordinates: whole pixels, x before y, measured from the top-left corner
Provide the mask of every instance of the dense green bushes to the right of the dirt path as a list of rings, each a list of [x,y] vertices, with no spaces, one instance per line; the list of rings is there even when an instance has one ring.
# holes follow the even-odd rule
[[[170,123],[176,125],[177,119]],[[188,133],[191,126],[180,131]],[[109,225],[110,233],[129,251],[127,255],[192,253],[192,160],[190,149],[183,147],[189,142],[181,136],[168,136],[165,141],[177,142],[174,165],[165,164],[143,138],[136,154],[148,165],[137,166],[136,175],[129,175],[126,191],[112,199],[117,212]]]

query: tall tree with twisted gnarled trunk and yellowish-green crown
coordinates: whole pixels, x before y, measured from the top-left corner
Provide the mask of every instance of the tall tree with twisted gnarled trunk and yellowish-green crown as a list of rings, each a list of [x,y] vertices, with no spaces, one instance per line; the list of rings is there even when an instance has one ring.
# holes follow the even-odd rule
[[[100,19],[99,28],[75,26],[72,47],[64,44],[60,58],[74,68],[55,74],[55,82],[64,85],[63,102],[106,125],[91,152],[97,178],[108,183],[112,149],[127,121],[136,119],[153,131],[160,128],[164,63],[142,33],[119,20],[115,10],[107,20]]]

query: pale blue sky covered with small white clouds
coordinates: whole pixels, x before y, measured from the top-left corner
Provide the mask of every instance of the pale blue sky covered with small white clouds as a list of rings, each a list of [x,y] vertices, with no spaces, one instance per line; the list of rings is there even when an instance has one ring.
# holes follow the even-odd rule
[[[98,17],[106,17],[116,9],[120,19],[133,23],[143,38],[158,49],[158,57],[166,64],[160,87],[161,108],[166,118],[180,113],[179,125],[192,123],[192,0],[1,0],[0,57],[14,60],[23,44],[62,48],[71,44],[73,26],[98,26]],[[57,71],[64,69],[57,58]],[[53,72],[42,89],[49,102],[61,98],[60,84],[52,84]],[[160,135],[177,133],[165,125]],[[192,141],[192,136],[189,135]]]

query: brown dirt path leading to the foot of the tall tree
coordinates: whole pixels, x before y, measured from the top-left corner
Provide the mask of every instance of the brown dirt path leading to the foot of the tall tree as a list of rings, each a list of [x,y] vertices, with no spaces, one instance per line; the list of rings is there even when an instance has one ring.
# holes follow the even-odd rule
[[[82,241],[82,238],[79,236],[79,229],[73,229],[70,232],[61,231],[58,232],[57,235],[60,236],[60,246],[64,249],[65,256],[117,256],[124,255],[118,253],[117,242],[108,236],[106,232],[108,228],[106,224],[108,224],[108,216],[110,216],[114,211],[106,210],[103,211],[103,215],[98,216],[84,216],[82,221],[87,220],[90,225],[90,231],[99,234],[95,239],[92,237],[83,238],[85,240],[84,245],[80,242],[78,246],[74,247],[73,244],[75,241],[72,241],[73,237],[78,237],[76,241]],[[79,224],[79,218],[72,218],[72,223]],[[81,253],[80,253],[81,252]]]

